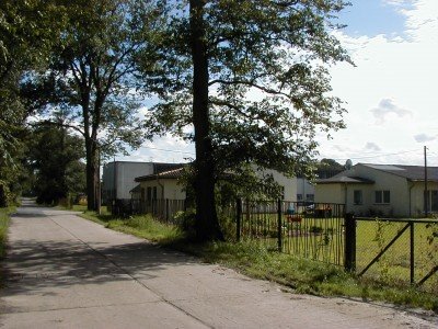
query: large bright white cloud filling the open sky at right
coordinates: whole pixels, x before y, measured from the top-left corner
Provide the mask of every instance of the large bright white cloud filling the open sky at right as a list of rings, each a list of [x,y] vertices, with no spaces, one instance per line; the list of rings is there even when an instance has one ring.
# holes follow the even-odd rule
[[[382,154],[391,156],[369,162],[419,164],[422,150],[412,136],[437,135],[438,1],[387,3],[397,5],[406,18],[405,31],[397,34],[403,37],[337,34],[356,67],[342,64],[331,71],[334,93],[346,101],[347,128],[332,134],[332,140],[321,140],[321,157],[359,157],[359,146],[372,138]],[[426,141],[438,152],[438,138]],[[416,148],[418,152],[405,152]],[[431,159],[434,164],[438,157]]]

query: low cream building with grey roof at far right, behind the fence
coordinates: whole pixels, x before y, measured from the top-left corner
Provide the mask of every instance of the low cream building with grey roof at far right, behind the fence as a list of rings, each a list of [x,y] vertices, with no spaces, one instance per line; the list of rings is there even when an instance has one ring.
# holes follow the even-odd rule
[[[357,163],[316,180],[315,202],[343,203],[358,216],[422,216],[438,212],[438,167]]]

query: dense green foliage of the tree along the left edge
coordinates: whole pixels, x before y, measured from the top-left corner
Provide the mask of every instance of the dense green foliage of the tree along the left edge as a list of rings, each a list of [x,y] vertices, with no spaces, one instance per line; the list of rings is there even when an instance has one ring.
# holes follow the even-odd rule
[[[45,64],[62,22],[62,10],[51,0],[0,2],[0,205],[13,195],[9,192],[21,171],[19,158],[30,111],[20,82],[27,70]]]

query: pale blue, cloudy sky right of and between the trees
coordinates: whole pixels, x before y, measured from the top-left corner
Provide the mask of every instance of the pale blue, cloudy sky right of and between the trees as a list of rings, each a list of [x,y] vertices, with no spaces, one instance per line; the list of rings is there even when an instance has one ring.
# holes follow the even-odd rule
[[[438,0],[350,0],[335,34],[355,66],[331,68],[346,128],[318,136],[320,158],[438,166]],[[155,138],[116,160],[185,162],[193,145]]]

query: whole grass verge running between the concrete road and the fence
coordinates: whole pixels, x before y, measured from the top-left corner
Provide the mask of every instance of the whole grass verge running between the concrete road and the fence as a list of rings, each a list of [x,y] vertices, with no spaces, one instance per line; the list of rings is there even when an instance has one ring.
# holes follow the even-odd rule
[[[279,253],[256,241],[196,245],[187,241],[178,228],[153,220],[151,216],[120,219],[110,214],[84,212],[82,217],[111,229],[197,256],[205,262],[235,269],[251,277],[280,283],[297,293],[385,302],[438,313],[437,295],[420,292],[415,287],[391,286],[358,279],[338,266]]]

